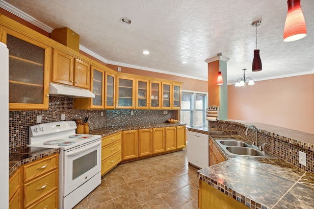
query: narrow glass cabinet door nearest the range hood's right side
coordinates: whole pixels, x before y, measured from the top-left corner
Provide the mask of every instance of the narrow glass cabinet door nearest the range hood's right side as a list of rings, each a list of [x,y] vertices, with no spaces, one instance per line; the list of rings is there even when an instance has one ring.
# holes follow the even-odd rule
[[[105,71],[93,67],[91,89],[95,98],[90,98],[92,100],[91,108],[104,108],[104,74]]]

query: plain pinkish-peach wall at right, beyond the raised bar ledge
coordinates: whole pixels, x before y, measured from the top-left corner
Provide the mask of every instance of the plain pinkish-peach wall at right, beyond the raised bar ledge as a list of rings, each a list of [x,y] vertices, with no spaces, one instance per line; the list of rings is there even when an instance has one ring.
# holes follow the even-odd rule
[[[314,74],[228,86],[228,119],[248,120],[314,134]]]

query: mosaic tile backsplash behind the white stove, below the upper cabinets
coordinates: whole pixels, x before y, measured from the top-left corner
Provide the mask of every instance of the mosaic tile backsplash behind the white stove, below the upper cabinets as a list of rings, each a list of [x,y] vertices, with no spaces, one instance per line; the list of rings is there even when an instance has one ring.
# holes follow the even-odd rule
[[[163,123],[168,118],[174,117],[174,111],[168,110],[163,115],[163,110],[74,110],[73,98],[49,97],[48,110],[34,111],[9,111],[9,148],[15,148],[28,144],[28,128],[36,123],[37,116],[42,116],[41,123],[60,121],[61,114],[65,114],[65,120],[89,117],[90,130],[111,127]],[[104,116],[101,116],[103,112]]]

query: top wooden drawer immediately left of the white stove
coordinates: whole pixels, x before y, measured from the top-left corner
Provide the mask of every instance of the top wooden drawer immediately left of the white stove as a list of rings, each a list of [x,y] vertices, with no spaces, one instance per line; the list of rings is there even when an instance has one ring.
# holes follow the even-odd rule
[[[24,182],[57,168],[58,163],[58,154],[56,154],[24,165]]]

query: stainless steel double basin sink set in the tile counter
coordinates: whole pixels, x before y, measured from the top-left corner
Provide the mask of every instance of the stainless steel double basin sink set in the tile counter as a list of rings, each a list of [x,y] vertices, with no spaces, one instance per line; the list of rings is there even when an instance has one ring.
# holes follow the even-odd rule
[[[216,139],[216,142],[228,155],[274,158],[274,156],[258,150],[248,141]]]

